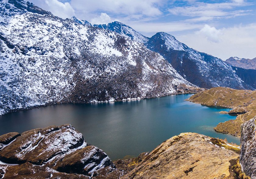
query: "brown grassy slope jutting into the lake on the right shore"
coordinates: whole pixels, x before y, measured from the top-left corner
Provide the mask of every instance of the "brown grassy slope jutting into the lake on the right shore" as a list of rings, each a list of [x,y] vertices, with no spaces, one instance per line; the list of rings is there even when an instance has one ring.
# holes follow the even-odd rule
[[[256,91],[236,90],[216,87],[191,96],[188,101],[206,106],[233,108],[231,115],[238,115],[236,120],[219,123],[215,130],[240,137],[240,126],[256,116]]]

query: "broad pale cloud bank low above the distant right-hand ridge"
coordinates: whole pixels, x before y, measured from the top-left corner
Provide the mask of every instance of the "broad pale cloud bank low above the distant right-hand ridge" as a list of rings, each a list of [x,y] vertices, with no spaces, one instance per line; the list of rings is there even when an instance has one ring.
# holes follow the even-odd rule
[[[239,25],[219,30],[219,42],[212,42],[199,32],[176,35],[176,38],[193,49],[206,52],[221,59],[231,56],[256,57],[256,24]]]

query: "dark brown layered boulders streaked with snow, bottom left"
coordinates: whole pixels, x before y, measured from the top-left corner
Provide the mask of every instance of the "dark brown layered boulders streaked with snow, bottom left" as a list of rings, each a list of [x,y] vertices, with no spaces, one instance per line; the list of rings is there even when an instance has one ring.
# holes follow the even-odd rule
[[[0,136],[0,178],[117,179],[123,174],[71,125]]]

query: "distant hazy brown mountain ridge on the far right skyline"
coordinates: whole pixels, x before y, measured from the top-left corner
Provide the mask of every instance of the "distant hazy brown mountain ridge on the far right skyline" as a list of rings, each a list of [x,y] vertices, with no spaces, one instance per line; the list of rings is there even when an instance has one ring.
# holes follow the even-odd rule
[[[225,61],[226,63],[244,68],[244,69],[256,69],[256,58],[254,59],[245,59],[245,58],[238,58],[238,57],[230,57]]]

